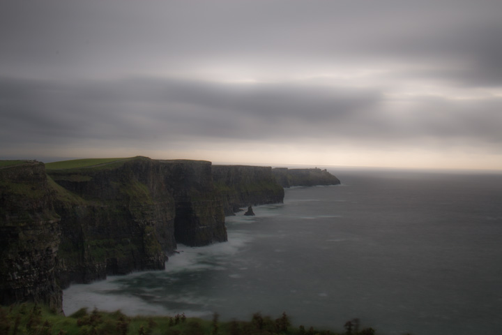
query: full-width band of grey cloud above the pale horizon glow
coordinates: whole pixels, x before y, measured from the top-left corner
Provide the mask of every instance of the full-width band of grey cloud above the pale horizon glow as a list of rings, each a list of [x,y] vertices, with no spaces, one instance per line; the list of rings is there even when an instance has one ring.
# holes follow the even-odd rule
[[[137,78],[107,82],[31,82],[3,78],[0,140],[15,142],[152,140],[198,142],[301,139],[420,144],[436,139],[501,143],[501,99],[455,103],[423,98],[388,114],[368,89],[295,84],[215,84]],[[480,108],[482,107],[482,108]]]

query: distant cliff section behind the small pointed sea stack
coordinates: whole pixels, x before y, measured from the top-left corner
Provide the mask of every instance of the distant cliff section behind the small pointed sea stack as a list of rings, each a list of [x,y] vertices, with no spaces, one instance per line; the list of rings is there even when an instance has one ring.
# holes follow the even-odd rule
[[[225,215],[233,215],[241,207],[284,200],[284,188],[277,184],[270,167],[214,165],[213,181],[221,194]]]

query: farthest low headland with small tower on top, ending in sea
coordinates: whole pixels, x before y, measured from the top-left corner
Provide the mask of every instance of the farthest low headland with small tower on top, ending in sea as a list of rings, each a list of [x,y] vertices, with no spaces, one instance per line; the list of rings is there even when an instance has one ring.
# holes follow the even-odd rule
[[[288,169],[273,168],[272,173],[282,187],[338,185],[340,180],[326,169]]]

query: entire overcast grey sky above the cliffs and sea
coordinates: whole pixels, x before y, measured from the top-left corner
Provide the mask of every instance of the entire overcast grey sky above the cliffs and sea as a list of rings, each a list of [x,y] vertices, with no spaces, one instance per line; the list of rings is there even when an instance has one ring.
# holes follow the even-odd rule
[[[502,170],[502,1],[0,0],[0,158]]]

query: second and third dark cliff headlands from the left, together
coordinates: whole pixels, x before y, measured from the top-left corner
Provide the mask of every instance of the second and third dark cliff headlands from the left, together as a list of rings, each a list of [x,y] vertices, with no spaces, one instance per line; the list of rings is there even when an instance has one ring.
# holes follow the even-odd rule
[[[81,199],[56,203],[62,214],[63,286],[163,269],[176,242],[202,246],[227,240],[210,162],[137,157],[47,173]]]

